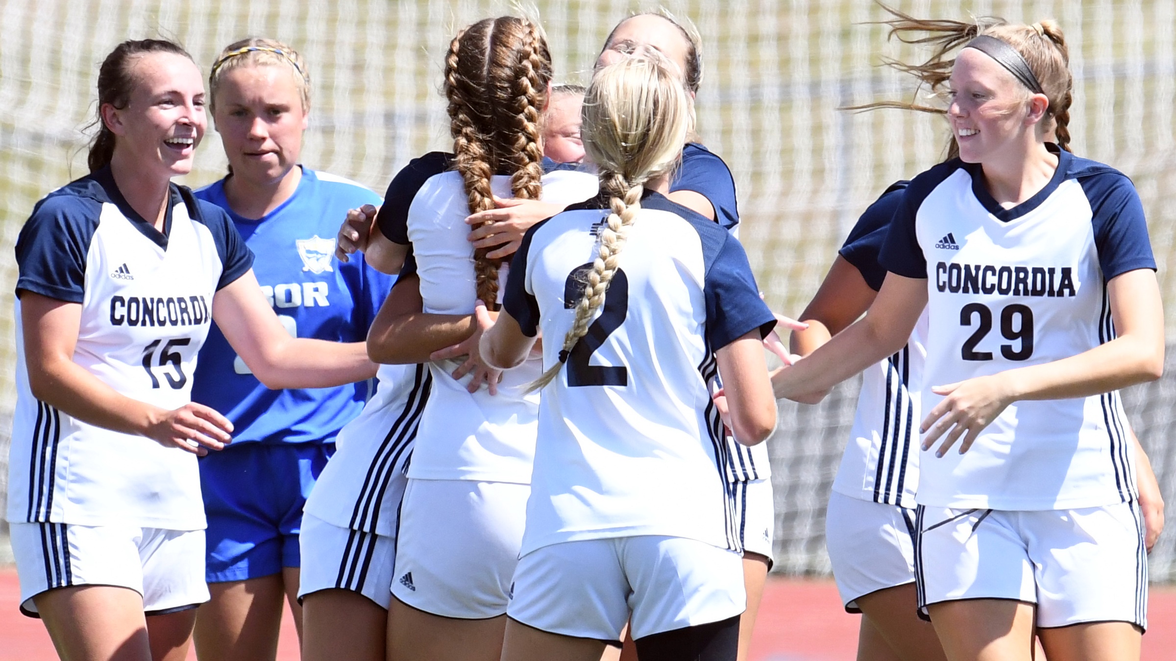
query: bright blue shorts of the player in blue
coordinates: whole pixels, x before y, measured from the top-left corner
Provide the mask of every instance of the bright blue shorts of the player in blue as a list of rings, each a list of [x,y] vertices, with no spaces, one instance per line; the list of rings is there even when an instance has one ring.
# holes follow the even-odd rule
[[[200,459],[209,583],[269,576],[301,565],[302,506],[334,453],[333,442],[245,442]]]

